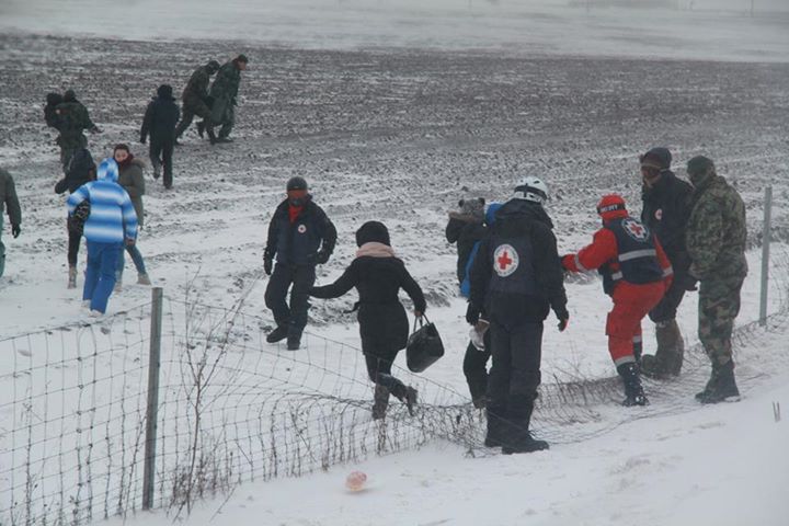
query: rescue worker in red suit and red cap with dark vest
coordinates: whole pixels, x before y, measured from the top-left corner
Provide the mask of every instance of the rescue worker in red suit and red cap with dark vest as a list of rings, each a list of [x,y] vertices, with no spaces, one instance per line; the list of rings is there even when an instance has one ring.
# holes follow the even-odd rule
[[[668,258],[652,231],[628,215],[625,199],[605,195],[597,204],[603,228],[592,244],[562,258],[570,272],[599,270],[603,290],[614,300],[605,332],[608,352],[625,385],[622,405],[647,405],[633,342],[641,341],[641,320],[663,298],[673,281]]]

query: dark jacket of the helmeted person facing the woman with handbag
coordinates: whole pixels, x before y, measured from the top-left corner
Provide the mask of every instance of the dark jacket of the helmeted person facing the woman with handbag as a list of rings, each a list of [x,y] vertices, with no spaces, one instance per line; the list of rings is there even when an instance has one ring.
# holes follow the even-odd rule
[[[323,209],[307,201],[295,222],[288,217],[288,201],[283,201],[268,224],[265,258],[276,255],[284,265],[315,264],[318,250],[331,254],[336,243],[336,229]]]

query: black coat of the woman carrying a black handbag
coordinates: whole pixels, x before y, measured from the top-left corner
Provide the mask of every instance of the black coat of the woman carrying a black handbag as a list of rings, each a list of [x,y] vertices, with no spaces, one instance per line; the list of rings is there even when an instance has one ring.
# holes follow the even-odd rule
[[[358,290],[359,334],[365,354],[393,359],[405,347],[409,320],[398,299],[402,288],[414,302],[414,309],[424,312],[427,305],[422,289],[403,262],[397,258],[356,258],[342,276],[331,285],[312,287],[316,298],[339,298],[353,287]]]

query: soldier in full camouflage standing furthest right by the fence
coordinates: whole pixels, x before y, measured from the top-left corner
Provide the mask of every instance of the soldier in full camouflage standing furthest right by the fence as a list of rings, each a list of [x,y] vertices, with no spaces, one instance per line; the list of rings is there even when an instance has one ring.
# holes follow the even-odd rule
[[[688,161],[694,205],[686,230],[690,274],[700,282],[699,340],[712,363],[701,403],[740,395],[734,380],[731,333],[740,312],[740,289],[747,275],[745,205],[740,194],[716,173],[706,157]]]

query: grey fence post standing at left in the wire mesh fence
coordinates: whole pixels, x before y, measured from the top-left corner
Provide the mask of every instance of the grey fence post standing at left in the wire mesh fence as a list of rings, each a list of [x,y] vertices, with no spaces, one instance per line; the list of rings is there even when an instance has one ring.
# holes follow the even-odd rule
[[[142,510],[153,505],[156,476],[156,438],[159,423],[159,369],[161,367],[162,288],[151,290],[151,333],[148,357],[148,407],[146,408],[146,450],[142,470]]]

